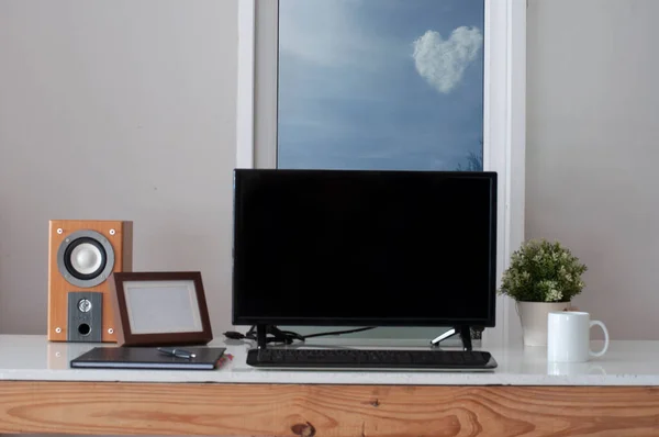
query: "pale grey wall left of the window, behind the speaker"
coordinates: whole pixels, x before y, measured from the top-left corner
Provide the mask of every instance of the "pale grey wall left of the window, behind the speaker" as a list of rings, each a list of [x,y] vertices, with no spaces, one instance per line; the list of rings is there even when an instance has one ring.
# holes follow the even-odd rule
[[[236,0],[0,1],[0,333],[45,334],[48,220],[135,225],[231,326]]]

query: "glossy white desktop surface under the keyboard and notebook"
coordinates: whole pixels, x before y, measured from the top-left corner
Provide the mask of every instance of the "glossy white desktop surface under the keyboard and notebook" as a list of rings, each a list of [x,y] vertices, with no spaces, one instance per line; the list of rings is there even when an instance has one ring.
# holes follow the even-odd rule
[[[328,343],[330,341],[330,343]],[[315,345],[354,345],[340,339]],[[387,345],[387,346],[384,346]],[[216,370],[71,369],[69,361],[99,344],[49,343],[45,336],[0,335],[0,380],[223,383],[332,383],[411,385],[659,385],[659,341],[612,341],[607,354],[588,363],[547,362],[539,347],[492,348],[493,371],[312,371],[259,370],[245,363],[248,341],[215,339],[233,360]],[[102,345],[115,347],[113,345]],[[313,346],[308,344],[308,346]],[[420,343],[389,340],[367,347],[424,348]],[[593,345],[599,348],[600,345]]]

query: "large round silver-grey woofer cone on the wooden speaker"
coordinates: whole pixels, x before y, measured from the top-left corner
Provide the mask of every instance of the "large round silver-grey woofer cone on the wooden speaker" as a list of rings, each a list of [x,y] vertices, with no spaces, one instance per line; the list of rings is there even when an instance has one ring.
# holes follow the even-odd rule
[[[72,285],[90,288],[105,281],[114,267],[110,242],[96,231],[78,231],[62,242],[57,268]]]

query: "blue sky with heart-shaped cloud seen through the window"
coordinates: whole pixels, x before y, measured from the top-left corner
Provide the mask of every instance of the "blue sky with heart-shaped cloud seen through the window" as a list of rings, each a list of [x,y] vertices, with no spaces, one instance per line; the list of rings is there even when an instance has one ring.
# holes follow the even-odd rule
[[[482,154],[483,0],[279,0],[280,168]]]

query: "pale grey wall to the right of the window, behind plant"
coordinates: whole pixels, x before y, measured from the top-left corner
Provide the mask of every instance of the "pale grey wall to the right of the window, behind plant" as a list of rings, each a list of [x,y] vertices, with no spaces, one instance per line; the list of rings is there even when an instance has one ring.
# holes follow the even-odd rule
[[[657,0],[530,0],[526,237],[589,266],[574,301],[659,339]]]

